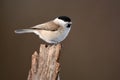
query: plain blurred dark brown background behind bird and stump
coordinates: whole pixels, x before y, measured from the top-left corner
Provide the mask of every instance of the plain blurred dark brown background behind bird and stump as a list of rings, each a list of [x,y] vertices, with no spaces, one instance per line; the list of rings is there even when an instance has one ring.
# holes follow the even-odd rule
[[[31,55],[44,43],[17,35],[60,15],[73,25],[62,42],[61,80],[120,80],[119,0],[1,0],[0,80],[27,80]]]

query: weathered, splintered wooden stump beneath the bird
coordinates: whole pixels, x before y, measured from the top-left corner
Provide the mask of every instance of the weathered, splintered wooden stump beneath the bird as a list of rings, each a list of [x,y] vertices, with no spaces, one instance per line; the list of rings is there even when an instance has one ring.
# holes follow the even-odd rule
[[[60,80],[59,78],[59,54],[61,44],[40,45],[40,52],[32,55],[32,64],[28,80]]]

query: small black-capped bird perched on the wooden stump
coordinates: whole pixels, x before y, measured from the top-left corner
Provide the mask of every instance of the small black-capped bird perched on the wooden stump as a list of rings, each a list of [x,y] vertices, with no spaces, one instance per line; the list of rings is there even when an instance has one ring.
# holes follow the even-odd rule
[[[72,21],[67,16],[59,16],[48,22],[27,29],[17,29],[15,33],[34,33],[47,43],[57,44],[63,41],[71,30]]]

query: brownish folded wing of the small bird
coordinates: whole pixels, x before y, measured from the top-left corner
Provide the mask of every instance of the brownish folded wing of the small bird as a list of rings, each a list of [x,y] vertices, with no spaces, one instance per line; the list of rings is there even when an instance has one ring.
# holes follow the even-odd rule
[[[37,30],[47,30],[47,31],[56,31],[60,26],[55,24],[54,22],[46,22],[43,24],[36,25],[34,27],[31,27],[32,29],[37,29]]]

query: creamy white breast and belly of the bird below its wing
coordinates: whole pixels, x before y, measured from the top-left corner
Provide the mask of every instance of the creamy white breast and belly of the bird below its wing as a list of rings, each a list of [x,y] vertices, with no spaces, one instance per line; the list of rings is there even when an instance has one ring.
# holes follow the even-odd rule
[[[61,42],[67,37],[69,31],[70,28],[59,29],[57,31],[41,30],[39,37],[45,40],[46,42]]]

